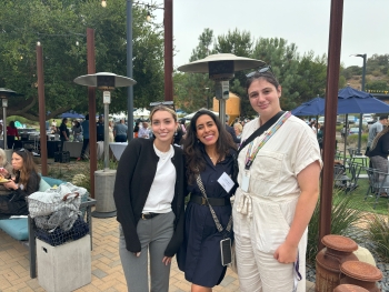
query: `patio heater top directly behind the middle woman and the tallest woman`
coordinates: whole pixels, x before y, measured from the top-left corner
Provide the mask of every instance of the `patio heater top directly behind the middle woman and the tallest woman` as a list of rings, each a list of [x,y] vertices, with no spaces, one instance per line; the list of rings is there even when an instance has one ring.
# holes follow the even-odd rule
[[[208,73],[215,81],[215,97],[219,100],[219,119],[226,123],[226,101],[229,98],[229,81],[236,71],[265,66],[261,60],[237,57],[232,53],[210,54],[205,59],[178,68],[186,73]]]

